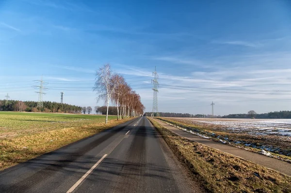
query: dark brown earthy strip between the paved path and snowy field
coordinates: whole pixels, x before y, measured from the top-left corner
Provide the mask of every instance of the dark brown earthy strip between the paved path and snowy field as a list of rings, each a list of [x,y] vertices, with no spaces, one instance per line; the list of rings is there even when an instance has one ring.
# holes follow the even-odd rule
[[[224,144],[237,147],[237,148],[243,148],[245,150],[252,151],[259,154],[262,154],[261,151],[262,149],[264,149],[267,153],[270,153],[268,157],[273,157],[275,159],[291,163],[291,156],[290,156],[291,148],[288,145],[283,146],[283,142],[278,143],[278,141],[276,141],[276,144],[274,144],[271,142],[271,140],[264,138],[265,136],[261,137],[261,136],[252,136],[250,134],[232,134],[232,133],[226,133],[226,132],[219,132],[219,131],[205,129],[198,125],[187,124],[187,123],[175,121],[172,119],[164,119],[164,118],[159,118],[159,119],[161,121],[170,123],[173,126],[178,127],[179,129],[183,129],[183,130],[186,129],[187,132],[194,132],[195,134],[198,134],[198,135],[201,134],[219,143],[224,143]],[[274,151],[274,150],[269,149],[270,147],[275,148],[275,146],[277,147],[277,149],[281,149],[281,150]]]

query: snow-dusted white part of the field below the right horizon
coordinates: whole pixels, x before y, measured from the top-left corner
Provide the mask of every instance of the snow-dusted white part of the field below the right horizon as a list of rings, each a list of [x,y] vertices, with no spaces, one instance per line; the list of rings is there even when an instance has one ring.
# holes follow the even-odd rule
[[[187,119],[196,125],[208,125],[231,133],[291,136],[291,119],[175,119]]]

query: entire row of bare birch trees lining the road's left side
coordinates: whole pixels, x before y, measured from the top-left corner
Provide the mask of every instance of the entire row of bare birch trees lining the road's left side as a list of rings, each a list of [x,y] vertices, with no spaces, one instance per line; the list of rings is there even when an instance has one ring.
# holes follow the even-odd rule
[[[122,75],[114,73],[109,64],[97,70],[93,90],[97,92],[97,102],[104,100],[107,104],[106,123],[110,101],[116,104],[117,119],[144,114],[145,106],[140,95],[130,88]]]

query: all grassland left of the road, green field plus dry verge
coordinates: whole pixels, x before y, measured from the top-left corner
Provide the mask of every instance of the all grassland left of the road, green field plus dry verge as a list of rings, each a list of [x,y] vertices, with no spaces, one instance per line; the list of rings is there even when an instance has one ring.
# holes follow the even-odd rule
[[[103,115],[0,112],[0,170],[129,119]]]

